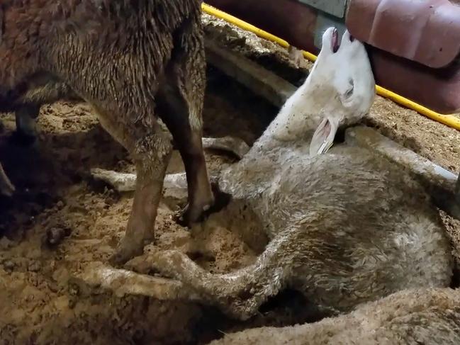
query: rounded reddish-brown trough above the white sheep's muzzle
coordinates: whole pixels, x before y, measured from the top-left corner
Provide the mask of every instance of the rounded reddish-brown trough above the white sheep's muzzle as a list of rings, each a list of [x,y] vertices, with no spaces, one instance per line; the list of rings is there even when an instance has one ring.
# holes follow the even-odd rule
[[[346,23],[358,40],[428,67],[460,53],[460,6],[449,0],[350,0]]]

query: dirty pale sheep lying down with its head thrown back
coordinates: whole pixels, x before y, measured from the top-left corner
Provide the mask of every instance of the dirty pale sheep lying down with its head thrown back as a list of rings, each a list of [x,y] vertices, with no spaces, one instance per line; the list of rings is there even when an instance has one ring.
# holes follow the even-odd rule
[[[215,178],[270,239],[254,264],[213,274],[180,251],[154,250],[128,268],[178,279],[239,319],[284,288],[334,315],[399,290],[449,285],[449,241],[419,183],[366,149],[329,150],[337,128],[369,111],[375,84],[364,45],[346,32],[339,47],[333,28],[322,39],[305,84],[240,162]]]

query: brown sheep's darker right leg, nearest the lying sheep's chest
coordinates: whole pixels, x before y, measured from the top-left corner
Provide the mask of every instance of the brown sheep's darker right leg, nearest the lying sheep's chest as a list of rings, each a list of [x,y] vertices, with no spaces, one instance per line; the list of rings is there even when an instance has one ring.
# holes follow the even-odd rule
[[[201,137],[206,59],[203,30],[198,12],[173,33],[171,60],[155,101],[158,115],[174,137],[187,176],[188,205],[181,216],[182,225],[191,226],[214,205]]]

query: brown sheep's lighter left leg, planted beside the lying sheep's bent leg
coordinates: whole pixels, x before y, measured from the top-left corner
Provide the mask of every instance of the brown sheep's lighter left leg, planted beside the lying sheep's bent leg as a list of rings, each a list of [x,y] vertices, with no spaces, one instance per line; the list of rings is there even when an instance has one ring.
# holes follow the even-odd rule
[[[94,107],[102,127],[133,157],[137,179],[133,208],[125,237],[120,241],[111,264],[123,264],[142,254],[145,244],[154,239],[155,218],[162,197],[164,175],[171,157],[171,135],[161,120],[152,118],[151,128],[142,122],[126,124]]]

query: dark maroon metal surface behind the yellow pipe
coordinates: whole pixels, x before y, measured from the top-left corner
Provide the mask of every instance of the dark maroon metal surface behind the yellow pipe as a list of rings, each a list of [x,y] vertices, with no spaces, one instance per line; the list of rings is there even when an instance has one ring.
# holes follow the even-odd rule
[[[377,0],[362,1],[374,3]],[[417,0],[416,2],[426,4],[430,1],[432,0]],[[318,49],[314,45],[318,13],[298,1],[209,0],[206,2],[211,6],[215,6],[243,21],[252,23],[254,26],[287,40],[291,45],[309,52],[318,53]],[[438,0],[438,2],[444,4],[446,1]],[[455,12],[458,9],[460,8],[455,7]],[[355,28],[354,31],[356,30]],[[387,30],[389,29],[387,28]],[[460,28],[456,28],[455,25],[449,27],[449,30],[455,31],[455,35],[460,35]],[[362,37],[355,33],[354,35],[358,39],[363,40],[365,33],[361,34]],[[432,40],[442,40],[442,38],[447,37],[441,35],[441,33],[439,35],[439,38],[432,38]],[[454,34],[449,33],[449,35]],[[460,36],[458,39],[451,41],[450,45],[454,47],[460,45]],[[435,69],[374,47],[369,47],[368,51],[376,81],[379,85],[439,113],[449,114],[460,111],[459,64],[454,62],[447,67]],[[449,59],[452,60],[454,58],[452,51],[449,50],[450,55],[442,55],[442,59],[446,61]],[[438,58],[439,61],[442,60],[441,57]],[[439,62],[438,64],[441,63]]]

